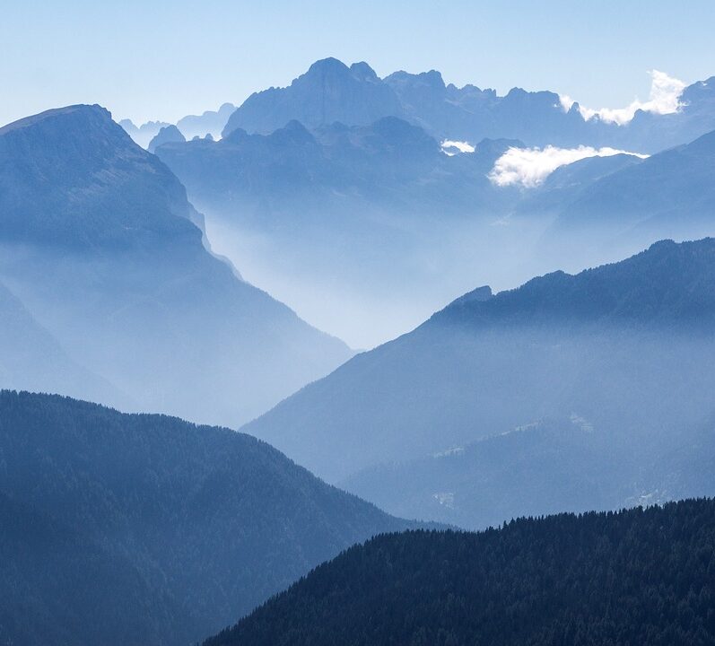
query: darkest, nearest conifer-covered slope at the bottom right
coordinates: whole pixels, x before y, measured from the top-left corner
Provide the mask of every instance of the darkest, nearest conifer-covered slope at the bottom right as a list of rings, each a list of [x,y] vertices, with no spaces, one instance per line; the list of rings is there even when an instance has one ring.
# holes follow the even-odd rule
[[[704,645],[713,540],[712,500],[377,537],[205,644]]]

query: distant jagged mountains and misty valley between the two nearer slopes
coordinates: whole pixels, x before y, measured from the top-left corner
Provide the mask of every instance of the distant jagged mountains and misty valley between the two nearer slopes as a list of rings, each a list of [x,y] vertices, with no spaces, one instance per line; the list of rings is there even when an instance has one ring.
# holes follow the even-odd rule
[[[207,215],[222,254],[245,275],[318,327],[371,347],[419,325],[474,282],[501,289],[556,268],[625,258],[655,240],[715,235],[698,198],[712,182],[699,169],[688,196],[666,180],[658,188],[664,199],[652,204],[645,175],[654,163],[628,170],[641,165],[633,155],[562,166],[536,188],[498,187],[485,178],[510,146],[658,153],[689,142],[715,114],[712,87],[693,83],[674,114],[641,110],[616,125],[585,119],[576,104],[564,111],[554,92],[517,88],[499,96],[444,83],[437,71],[379,79],[368,65],[327,59],[289,88],[253,95],[224,132],[230,144],[165,146],[161,158]],[[345,99],[353,94],[360,99]],[[358,108],[356,116],[351,110]],[[303,139],[285,136],[289,123],[301,124]],[[415,148],[399,140],[397,124],[414,128],[405,133]],[[377,145],[387,141],[388,126],[391,143]],[[418,143],[418,132],[432,142]],[[404,153],[395,154],[396,146]],[[458,153],[472,147],[475,153]],[[445,160],[445,153],[458,154]],[[524,156],[530,154],[539,153]],[[677,173],[691,174],[690,164],[700,162],[682,159]],[[639,213],[624,203],[629,173],[643,174]],[[650,218],[651,209],[664,212],[667,204],[670,214]],[[622,223],[616,213],[624,214]],[[367,320],[368,311],[379,317]]]

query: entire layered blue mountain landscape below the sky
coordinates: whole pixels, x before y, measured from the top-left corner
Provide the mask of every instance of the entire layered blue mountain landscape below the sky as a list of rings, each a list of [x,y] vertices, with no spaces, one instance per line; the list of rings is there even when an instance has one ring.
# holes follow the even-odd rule
[[[711,643],[713,83],[0,127],[0,644]]]

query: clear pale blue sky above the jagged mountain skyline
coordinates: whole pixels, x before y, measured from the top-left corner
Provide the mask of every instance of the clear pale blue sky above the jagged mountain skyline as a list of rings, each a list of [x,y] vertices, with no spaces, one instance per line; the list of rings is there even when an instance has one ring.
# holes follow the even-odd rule
[[[0,124],[78,102],[175,121],[328,56],[619,107],[647,98],[650,69],[715,74],[713,25],[712,0],[6,0]]]

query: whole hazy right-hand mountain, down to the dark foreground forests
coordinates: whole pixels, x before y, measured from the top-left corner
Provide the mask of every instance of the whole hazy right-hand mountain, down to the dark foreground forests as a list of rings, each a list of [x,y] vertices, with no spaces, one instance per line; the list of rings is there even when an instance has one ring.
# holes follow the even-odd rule
[[[642,474],[713,412],[713,285],[715,240],[663,241],[614,265],[460,299],[246,430],[388,507],[429,517],[435,502],[456,502],[439,517],[470,526],[669,499],[669,471]],[[582,468],[589,459],[598,467]],[[709,473],[695,493],[711,491]],[[580,484],[566,494],[571,478]]]

